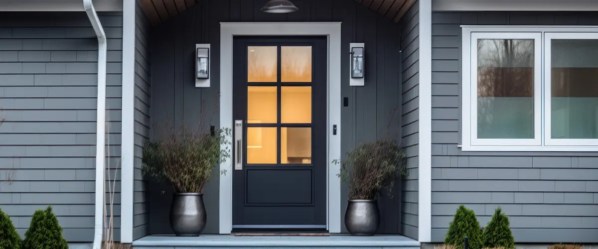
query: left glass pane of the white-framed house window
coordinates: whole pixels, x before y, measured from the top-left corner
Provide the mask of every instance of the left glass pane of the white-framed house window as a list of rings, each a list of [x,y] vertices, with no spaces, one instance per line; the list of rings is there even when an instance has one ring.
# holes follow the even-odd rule
[[[479,39],[478,139],[533,139],[533,39]]]

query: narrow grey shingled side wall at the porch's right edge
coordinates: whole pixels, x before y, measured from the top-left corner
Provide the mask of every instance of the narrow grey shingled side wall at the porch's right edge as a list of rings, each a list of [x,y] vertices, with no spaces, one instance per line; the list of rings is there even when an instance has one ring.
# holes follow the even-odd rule
[[[403,235],[418,238],[418,144],[419,144],[419,4],[399,21],[401,25],[402,143],[407,154],[407,179],[403,182]]]

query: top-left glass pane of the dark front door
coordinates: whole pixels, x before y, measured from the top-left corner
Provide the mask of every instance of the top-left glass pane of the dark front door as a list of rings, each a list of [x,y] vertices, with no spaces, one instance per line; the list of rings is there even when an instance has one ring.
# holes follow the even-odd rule
[[[277,82],[277,47],[247,47],[247,81]]]

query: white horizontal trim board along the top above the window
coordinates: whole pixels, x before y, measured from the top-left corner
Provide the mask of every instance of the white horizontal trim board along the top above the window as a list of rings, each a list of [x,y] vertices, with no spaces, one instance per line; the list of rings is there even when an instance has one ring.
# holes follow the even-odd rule
[[[596,0],[434,0],[433,11],[598,11]],[[420,10],[421,11],[421,10]]]

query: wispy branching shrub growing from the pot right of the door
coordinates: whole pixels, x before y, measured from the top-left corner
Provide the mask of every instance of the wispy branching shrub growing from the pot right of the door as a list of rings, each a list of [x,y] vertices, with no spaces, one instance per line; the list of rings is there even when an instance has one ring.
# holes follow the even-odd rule
[[[347,159],[342,162],[337,176],[349,186],[349,199],[376,199],[383,188],[392,189],[396,177],[407,176],[407,156],[394,139],[400,125],[393,136],[389,136],[396,109],[398,107],[390,110],[386,134],[382,139],[364,143],[346,153]],[[334,160],[333,163],[340,161]]]

